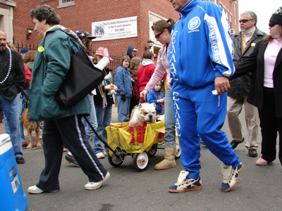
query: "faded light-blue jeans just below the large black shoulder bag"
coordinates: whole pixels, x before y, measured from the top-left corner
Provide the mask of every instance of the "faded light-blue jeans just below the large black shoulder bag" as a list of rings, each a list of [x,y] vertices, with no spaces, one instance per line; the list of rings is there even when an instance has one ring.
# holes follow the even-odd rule
[[[95,105],[94,105],[94,99],[93,95],[90,94],[90,105],[91,105],[91,113],[90,116],[87,116],[87,120],[89,120],[90,124],[94,129],[97,129],[97,117],[96,117],[96,111],[95,111]],[[82,123],[85,126],[85,133],[86,133],[86,140],[90,142],[90,137],[94,134],[91,127],[87,124],[84,118],[82,118]]]

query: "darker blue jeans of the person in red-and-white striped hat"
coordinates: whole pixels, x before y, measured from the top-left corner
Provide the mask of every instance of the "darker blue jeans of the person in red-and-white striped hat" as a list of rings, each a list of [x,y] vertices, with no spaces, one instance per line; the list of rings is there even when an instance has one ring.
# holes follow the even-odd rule
[[[106,141],[106,127],[109,126],[111,123],[111,110],[112,110],[112,105],[106,106],[106,108],[103,108],[103,106],[97,106],[96,105],[96,114],[97,114],[97,123],[98,123],[98,129],[97,129],[97,134]],[[103,148],[101,145],[101,141],[97,138],[97,136],[93,136],[93,142],[94,142],[94,147],[93,150],[94,152],[97,153],[102,153]],[[109,151],[109,148],[104,146],[105,151]]]

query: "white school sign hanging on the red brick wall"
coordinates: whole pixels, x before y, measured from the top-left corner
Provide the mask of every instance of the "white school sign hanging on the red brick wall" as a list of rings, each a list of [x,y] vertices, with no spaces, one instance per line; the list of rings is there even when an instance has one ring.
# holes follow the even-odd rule
[[[92,22],[92,41],[137,37],[137,16]]]

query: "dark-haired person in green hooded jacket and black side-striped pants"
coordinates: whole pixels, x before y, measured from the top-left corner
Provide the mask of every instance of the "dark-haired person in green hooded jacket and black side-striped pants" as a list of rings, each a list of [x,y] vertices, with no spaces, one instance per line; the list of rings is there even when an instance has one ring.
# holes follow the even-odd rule
[[[35,24],[35,32],[42,38],[33,69],[29,120],[44,120],[43,150],[45,167],[39,182],[30,186],[29,193],[60,190],[59,173],[63,156],[63,145],[75,157],[88,177],[85,189],[99,188],[110,174],[96,157],[90,142],[86,139],[83,115],[90,114],[89,96],[70,108],[64,108],[56,101],[56,92],[61,87],[71,66],[71,53],[85,49],[75,32],[59,25],[60,16],[48,5],[37,6],[30,11]],[[108,51],[104,51],[103,64],[109,63]]]

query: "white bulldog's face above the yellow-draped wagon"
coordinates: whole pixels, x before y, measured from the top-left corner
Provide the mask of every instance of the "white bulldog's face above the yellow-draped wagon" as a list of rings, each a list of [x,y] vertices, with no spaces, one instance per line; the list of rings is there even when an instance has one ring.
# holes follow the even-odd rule
[[[137,109],[140,120],[147,123],[152,123],[156,120],[156,104],[155,103],[141,103]]]

